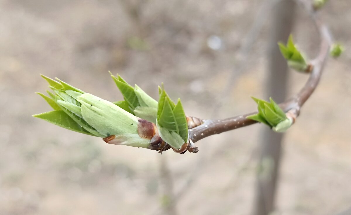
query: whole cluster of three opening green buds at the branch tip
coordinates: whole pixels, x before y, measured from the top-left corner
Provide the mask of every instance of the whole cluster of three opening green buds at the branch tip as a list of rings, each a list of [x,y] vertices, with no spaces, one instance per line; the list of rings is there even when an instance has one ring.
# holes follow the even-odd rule
[[[110,72],[111,74],[111,72]],[[138,120],[146,119],[157,125],[161,138],[174,148],[188,140],[188,125],[183,106],[170,99],[159,88],[159,101],[147,95],[138,85],[128,84],[121,76],[111,74],[124,100],[108,102],[75,88],[60,79],[41,75],[53,92],[38,93],[53,111],[33,115],[66,129],[96,137],[115,135],[118,145],[147,147],[150,140],[138,136]]]

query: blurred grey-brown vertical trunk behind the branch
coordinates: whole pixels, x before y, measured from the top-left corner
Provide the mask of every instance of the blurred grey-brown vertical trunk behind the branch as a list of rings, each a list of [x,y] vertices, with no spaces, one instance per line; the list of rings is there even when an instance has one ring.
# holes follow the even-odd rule
[[[287,41],[292,29],[293,11],[296,2],[279,1],[273,7],[272,30],[268,47],[267,96],[282,102],[286,96],[287,64],[280,54],[277,42]],[[277,187],[283,134],[265,128],[260,144],[260,160],[257,171],[255,215],[270,214],[274,210],[274,194]]]

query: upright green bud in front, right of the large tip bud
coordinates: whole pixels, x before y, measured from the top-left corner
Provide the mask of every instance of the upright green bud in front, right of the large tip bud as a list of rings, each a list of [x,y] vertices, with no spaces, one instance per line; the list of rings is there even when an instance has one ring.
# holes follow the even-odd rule
[[[166,143],[175,148],[180,148],[181,145],[188,141],[188,125],[183,106],[180,99],[178,99],[177,105],[175,105],[166,91],[161,88],[159,89],[160,98],[156,125],[161,138]]]

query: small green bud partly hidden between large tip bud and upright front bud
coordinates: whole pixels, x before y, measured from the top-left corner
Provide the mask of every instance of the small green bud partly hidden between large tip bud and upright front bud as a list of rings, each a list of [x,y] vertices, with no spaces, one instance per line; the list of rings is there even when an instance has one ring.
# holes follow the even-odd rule
[[[111,77],[116,83],[118,89],[121,91],[126,102],[118,102],[115,104],[120,106],[122,109],[134,114],[135,116],[155,123],[157,114],[154,110],[157,110],[157,101],[147,95],[138,85],[135,84],[134,87],[129,85],[120,75],[115,77],[111,74]],[[128,104],[128,106],[126,106],[126,104]]]

